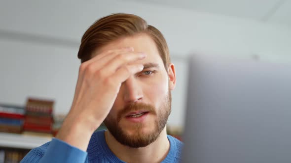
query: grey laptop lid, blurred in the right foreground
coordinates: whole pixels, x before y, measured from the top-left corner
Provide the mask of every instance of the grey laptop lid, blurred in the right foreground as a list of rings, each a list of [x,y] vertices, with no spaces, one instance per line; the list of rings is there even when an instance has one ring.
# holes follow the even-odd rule
[[[182,163],[291,163],[291,63],[193,54]]]

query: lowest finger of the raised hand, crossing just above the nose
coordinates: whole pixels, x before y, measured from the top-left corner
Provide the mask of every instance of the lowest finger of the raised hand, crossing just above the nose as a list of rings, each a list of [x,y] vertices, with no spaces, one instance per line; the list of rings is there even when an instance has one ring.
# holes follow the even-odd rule
[[[134,75],[136,73],[139,73],[143,71],[144,65],[142,64],[131,64],[126,65],[121,68],[119,68],[113,75],[112,75],[112,81],[116,81],[118,83],[122,83],[126,81],[131,75]]]

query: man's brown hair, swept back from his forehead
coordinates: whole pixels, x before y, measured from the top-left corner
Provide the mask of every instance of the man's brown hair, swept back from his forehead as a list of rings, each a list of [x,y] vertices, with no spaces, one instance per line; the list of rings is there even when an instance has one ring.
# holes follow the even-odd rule
[[[171,61],[169,49],[162,33],[157,28],[147,25],[141,17],[133,14],[117,13],[97,20],[84,33],[78,58],[83,63],[91,59],[93,51],[109,44],[109,42],[140,33],[146,33],[153,39],[167,69]]]

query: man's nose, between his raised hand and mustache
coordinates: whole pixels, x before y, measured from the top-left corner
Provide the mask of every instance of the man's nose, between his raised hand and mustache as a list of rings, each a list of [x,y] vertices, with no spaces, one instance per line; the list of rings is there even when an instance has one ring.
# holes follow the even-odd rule
[[[143,99],[142,85],[134,77],[128,78],[121,85],[123,100],[125,103],[141,102]]]

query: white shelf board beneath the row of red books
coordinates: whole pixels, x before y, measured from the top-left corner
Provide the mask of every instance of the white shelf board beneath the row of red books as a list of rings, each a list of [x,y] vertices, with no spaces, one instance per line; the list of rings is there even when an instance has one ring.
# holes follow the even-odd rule
[[[48,141],[51,141],[51,138],[0,133],[0,147],[33,149]]]

